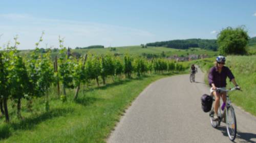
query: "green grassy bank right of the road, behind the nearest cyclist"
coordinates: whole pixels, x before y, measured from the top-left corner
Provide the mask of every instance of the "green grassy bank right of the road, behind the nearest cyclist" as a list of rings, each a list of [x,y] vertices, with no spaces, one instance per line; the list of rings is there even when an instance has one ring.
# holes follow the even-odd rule
[[[209,68],[214,65],[214,61],[214,58],[194,61],[205,71],[206,84],[208,84]],[[231,101],[256,116],[256,55],[227,56],[226,66],[230,68],[243,90],[243,92],[233,92],[230,96]],[[227,83],[228,88],[233,87],[229,79],[227,79]]]

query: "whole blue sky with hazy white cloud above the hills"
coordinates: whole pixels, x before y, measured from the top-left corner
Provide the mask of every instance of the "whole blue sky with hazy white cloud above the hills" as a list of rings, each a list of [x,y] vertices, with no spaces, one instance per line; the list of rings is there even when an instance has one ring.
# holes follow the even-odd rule
[[[216,39],[227,26],[256,36],[256,1],[2,1],[0,46],[18,35],[19,49],[129,46],[174,39]]]

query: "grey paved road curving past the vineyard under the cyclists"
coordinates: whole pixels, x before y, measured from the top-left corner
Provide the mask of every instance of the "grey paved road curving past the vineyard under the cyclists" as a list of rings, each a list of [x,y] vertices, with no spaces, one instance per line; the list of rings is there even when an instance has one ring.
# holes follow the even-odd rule
[[[209,93],[203,73],[190,83],[188,74],[160,79],[150,84],[126,110],[108,138],[126,142],[231,142],[226,126],[212,128],[200,97]],[[256,142],[256,118],[235,107],[238,136],[235,142]]]

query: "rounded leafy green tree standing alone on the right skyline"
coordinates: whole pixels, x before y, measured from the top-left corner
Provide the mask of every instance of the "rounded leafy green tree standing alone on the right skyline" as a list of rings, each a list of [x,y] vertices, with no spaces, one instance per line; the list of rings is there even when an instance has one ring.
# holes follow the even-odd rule
[[[249,36],[244,26],[227,27],[218,34],[217,43],[220,54],[246,54]]]

